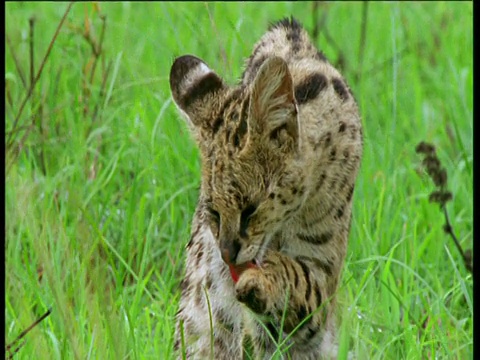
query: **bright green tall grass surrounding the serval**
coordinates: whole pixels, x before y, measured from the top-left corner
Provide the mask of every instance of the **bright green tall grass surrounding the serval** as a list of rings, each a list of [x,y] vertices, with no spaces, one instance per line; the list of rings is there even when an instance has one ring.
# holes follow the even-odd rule
[[[27,81],[28,19],[35,16],[38,70],[66,8],[6,4],[6,34]],[[470,248],[472,3],[369,3],[362,66],[362,3],[322,4],[317,15],[306,2],[100,8],[107,25],[92,81],[82,72],[91,47],[81,33],[90,19],[98,40],[102,22],[91,3],[76,3],[13,136],[26,90],[6,46],[6,140],[18,153],[6,157],[6,342],[52,307],[16,358],[172,357],[200,176],[171,101],[172,60],[195,54],[232,83],[268,23],[290,14],[309,31],[325,16],[317,45],[333,63],[343,56],[364,125],[339,358],[473,357],[472,276],[428,202],[433,184],[414,150],[421,140],[436,145],[454,194],[453,226]]]

